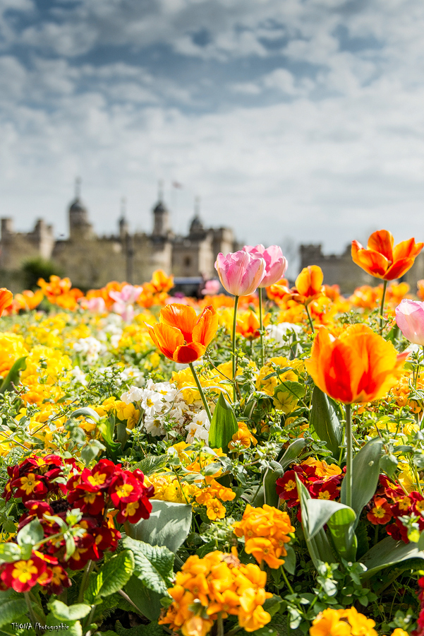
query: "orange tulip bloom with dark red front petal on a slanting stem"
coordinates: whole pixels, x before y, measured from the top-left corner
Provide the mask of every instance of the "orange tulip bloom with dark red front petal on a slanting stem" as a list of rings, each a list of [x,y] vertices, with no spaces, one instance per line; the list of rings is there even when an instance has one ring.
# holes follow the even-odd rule
[[[172,303],[161,310],[159,324],[146,323],[146,326],[166,358],[189,364],[198,360],[212,342],[218,329],[218,315],[212,305],[197,317],[193,307]]]

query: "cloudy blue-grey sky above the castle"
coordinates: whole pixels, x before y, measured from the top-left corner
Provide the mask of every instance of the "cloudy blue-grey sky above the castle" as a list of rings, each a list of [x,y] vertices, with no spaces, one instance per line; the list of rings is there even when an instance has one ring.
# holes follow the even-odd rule
[[[424,237],[423,0],[0,0],[0,216]],[[179,182],[182,189],[173,189]]]

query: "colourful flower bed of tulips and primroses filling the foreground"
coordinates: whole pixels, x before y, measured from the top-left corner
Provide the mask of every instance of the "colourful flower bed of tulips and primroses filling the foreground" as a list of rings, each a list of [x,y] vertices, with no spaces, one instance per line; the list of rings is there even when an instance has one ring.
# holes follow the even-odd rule
[[[0,290],[0,632],[423,636],[422,247]]]

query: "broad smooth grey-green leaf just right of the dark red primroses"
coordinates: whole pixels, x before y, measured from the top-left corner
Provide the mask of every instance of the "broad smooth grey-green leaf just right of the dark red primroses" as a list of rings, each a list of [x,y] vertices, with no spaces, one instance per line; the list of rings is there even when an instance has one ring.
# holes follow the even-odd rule
[[[126,534],[152,546],[166,546],[171,552],[181,548],[190,532],[191,506],[170,501],[151,500],[149,519],[136,524],[126,522]]]

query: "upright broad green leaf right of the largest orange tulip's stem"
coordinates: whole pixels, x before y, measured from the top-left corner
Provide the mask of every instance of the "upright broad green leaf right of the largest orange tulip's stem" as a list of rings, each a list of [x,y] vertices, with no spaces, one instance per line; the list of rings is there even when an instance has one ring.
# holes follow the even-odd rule
[[[380,475],[382,447],[383,442],[380,437],[374,437],[353,457],[352,508],[357,515],[356,524],[363,507],[375,495]],[[341,482],[340,500],[346,504],[346,478]]]

